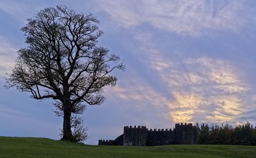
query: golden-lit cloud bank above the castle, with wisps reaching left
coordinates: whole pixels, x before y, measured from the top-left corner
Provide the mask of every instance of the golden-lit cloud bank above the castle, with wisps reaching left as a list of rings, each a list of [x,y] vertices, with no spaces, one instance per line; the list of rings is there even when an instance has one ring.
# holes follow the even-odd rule
[[[135,39],[141,53],[136,56],[150,65],[147,68],[154,72],[154,83],[146,83],[143,76],[131,76],[133,80],[113,89],[115,97],[134,101],[137,108],[146,108],[140,105],[147,103],[167,109],[162,115],[170,122],[248,121],[242,117],[255,109],[256,100],[239,67],[214,57],[169,58],[157,48],[151,34],[138,34]],[[154,84],[165,86],[157,89]]]

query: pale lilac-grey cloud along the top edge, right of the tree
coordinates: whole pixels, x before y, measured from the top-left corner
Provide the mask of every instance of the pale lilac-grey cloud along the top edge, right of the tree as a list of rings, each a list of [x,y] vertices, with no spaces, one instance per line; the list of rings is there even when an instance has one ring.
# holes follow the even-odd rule
[[[198,36],[208,29],[237,31],[250,14],[245,1],[95,1],[117,25],[130,28],[150,24],[155,29]],[[250,19],[252,20],[252,19]]]

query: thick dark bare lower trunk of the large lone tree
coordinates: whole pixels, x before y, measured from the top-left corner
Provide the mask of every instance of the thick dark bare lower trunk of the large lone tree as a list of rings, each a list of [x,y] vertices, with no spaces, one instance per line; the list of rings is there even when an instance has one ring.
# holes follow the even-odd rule
[[[71,131],[71,111],[65,110],[63,116],[63,137],[62,140],[73,141],[73,134]]]

